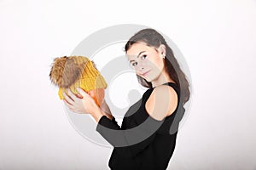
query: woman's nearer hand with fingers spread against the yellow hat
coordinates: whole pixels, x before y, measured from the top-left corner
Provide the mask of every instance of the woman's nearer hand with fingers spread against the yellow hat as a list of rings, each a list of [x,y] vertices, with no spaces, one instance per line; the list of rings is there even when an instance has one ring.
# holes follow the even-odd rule
[[[67,94],[63,93],[63,100],[65,105],[67,105],[70,111],[84,114],[89,113],[90,115],[92,115],[94,111],[99,109],[99,107],[96,105],[95,100],[92,99],[89,94],[84,92],[83,89],[77,88],[77,90],[80,94],[80,97],[73,94],[70,89],[68,89],[68,96]]]

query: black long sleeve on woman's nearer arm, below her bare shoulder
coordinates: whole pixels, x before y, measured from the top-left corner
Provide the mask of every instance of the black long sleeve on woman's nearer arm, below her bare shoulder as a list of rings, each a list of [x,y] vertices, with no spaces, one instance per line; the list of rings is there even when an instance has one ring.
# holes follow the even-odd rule
[[[102,116],[96,131],[106,139],[109,144],[122,156],[132,157],[144,150],[155,138],[155,133],[163,121],[156,121],[148,116],[147,120],[137,127],[122,129],[119,127],[114,117],[109,120],[107,116]]]

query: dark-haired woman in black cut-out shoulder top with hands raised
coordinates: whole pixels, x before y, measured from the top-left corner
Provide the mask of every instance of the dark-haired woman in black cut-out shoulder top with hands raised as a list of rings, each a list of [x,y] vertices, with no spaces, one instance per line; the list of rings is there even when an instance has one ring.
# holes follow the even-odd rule
[[[96,131],[114,146],[111,169],[166,169],[176,144],[183,105],[189,100],[189,82],[164,37],[153,29],[138,31],[125,44],[126,57],[148,90],[125,113],[119,127],[104,102],[99,108],[89,94],[83,99],[70,91],[65,104],[71,111],[89,113]]]

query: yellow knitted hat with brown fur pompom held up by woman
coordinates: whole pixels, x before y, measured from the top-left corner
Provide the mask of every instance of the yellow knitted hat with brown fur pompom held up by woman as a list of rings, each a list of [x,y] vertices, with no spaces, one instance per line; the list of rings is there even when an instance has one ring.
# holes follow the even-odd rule
[[[100,72],[96,70],[96,65],[84,56],[55,58],[49,77],[51,82],[59,87],[60,99],[64,99],[62,92],[67,94],[68,88],[73,94],[79,94],[76,88],[88,92],[108,87]]]

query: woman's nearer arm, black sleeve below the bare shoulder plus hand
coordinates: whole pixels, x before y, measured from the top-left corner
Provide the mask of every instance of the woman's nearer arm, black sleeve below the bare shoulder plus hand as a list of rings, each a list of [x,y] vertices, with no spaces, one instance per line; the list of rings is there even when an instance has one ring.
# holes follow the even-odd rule
[[[63,94],[65,97],[65,104],[71,111],[77,113],[89,113],[93,116],[96,122],[98,122],[96,131],[100,133],[109,144],[112,144],[119,154],[132,157],[143,151],[148,144],[152,143],[155,137],[155,132],[163,122],[157,121],[151,116],[148,116],[147,113],[142,112],[142,114],[147,114],[148,116],[148,119],[145,122],[131,129],[122,129],[119,127],[113,116],[112,119],[109,119],[105,115],[108,114],[110,110],[104,110],[108,112],[104,113],[104,111],[96,105],[96,102],[89,94],[86,94],[84,91],[79,91],[79,93],[82,94],[83,99],[77,98],[70,91],[68,91],[68,94],[71,99],[67,97],[66,94]],[[102,107],[105,107],[105,104],[104,106],[102,105]]]

